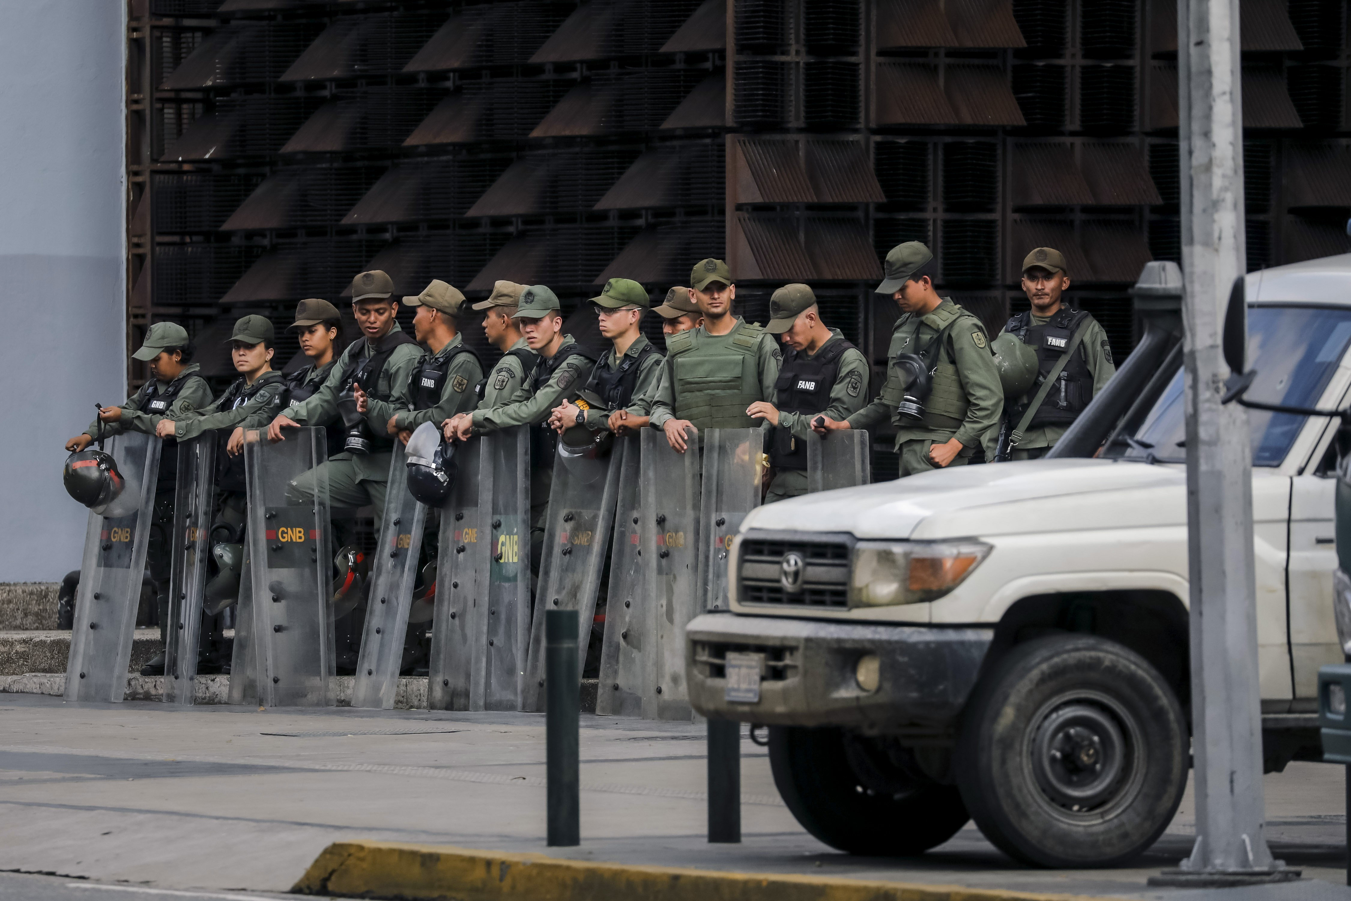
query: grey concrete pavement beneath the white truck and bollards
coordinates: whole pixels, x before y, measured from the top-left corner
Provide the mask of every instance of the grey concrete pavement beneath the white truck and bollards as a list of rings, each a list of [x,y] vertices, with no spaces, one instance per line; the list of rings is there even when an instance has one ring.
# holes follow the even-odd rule
[[[285,892],[339,840],[546,851],[540,715],[172,709],[8,694],[0,725],[0,870]],[[743,755],[744,842],[711,846],[703,728],[584,715],[582,846],[551,854],[1024,892],[1192,894],[1144,883],[1190,851],[1190,797],[1129,869],[1020,867],[973,827],[919,859],[851,858],[797,825],[763,748],[744,742]],[[1273,850],[1319,882],[1252,898],[1351,898],[1343,774],[1293,763],[1266,777]]]

